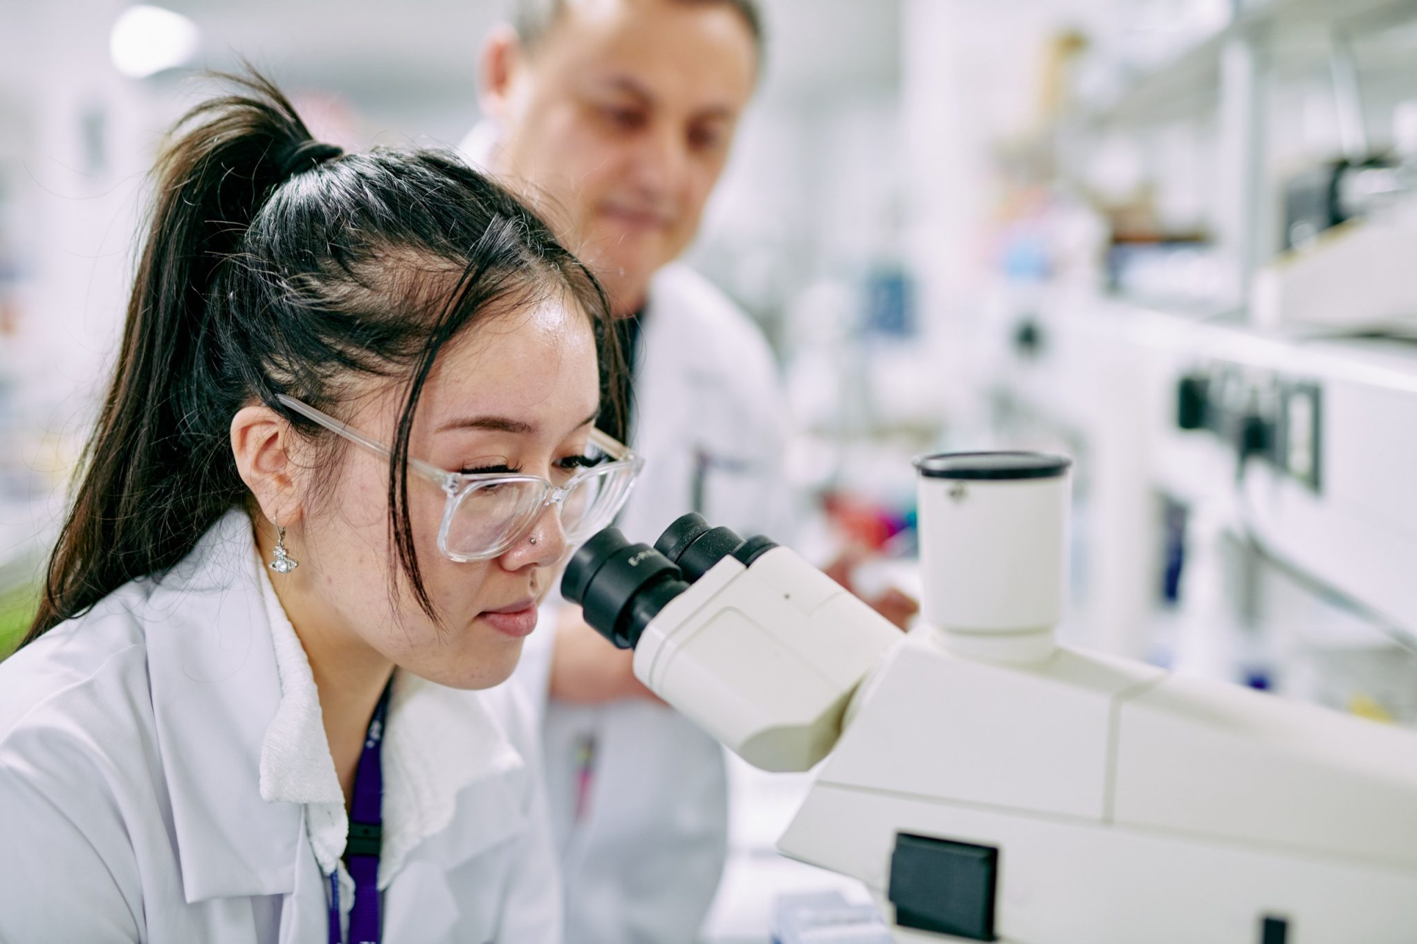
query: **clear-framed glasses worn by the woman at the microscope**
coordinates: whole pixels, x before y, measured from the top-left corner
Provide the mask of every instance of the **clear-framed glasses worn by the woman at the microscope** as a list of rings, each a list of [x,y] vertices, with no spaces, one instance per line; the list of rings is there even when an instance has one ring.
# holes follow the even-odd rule
[[[293,396],[279,393],[276,399],[332,433],[385,459],[393,457],[388,446],[353,426]],[[453,473],[412,457],[408,471],[448,495],[438,528],[438,551],[452,560],[487,560],[520,541],[547,505],[558,510],[561,529],[571,546],[615,519],[645,460],[598,429],[591,430],[585,453],[575,459],[580,468],[567,470],[570,477],[560,485],[517,473]]]

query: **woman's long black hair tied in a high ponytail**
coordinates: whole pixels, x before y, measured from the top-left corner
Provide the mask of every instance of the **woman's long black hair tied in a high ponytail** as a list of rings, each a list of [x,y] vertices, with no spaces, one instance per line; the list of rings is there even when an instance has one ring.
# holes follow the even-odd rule
[[[230,440],[241,408],[269,406],[333,454],[337,440],[276,396],[339,416],[354,375],[402,384],[390,534],[436,620],[405,460],[444,345],[496,303],[558,293],[592,321],[602,396],[615,389],[605,293],[509,191],[451,153],[319,146],[269,81],[221,78],[237,93],[190,110],[157,161],[113,379],[26,641],[160,576],[251,502]]]

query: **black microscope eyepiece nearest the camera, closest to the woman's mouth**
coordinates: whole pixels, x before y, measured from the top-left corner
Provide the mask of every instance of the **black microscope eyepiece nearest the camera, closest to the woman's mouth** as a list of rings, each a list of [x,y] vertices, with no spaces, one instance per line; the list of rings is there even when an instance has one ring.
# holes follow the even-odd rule
[[[581,545],[561,577],[561,596],[618,648],[632,650],[665,604],[689,589],[679,568],[649,545],[606,528]]]

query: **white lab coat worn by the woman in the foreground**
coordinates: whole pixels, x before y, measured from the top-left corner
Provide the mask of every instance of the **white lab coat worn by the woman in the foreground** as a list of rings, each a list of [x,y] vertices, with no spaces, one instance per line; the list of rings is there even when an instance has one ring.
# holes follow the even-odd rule
[[[259,566],[249,519],[228,512],[160,582],[120,587],[0,664],[0,941],[327,940],[312,807],[264,800],[258,783],[282,703]],[[534,736],[516,692],[414,684],[427,689],[400,706],[395,674],[385,848],[400,739],[428,744],[424,719],[438,718],[436,744],[476,746],[480,767],[391,873],[381,862],[383,940],[560,940]]]

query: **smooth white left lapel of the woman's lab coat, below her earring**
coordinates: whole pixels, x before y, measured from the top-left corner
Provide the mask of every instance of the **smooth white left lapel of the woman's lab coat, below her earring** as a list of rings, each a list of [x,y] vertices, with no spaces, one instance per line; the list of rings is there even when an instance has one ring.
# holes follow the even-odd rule
[[[261,798],[281,702],[255,538],[228,511],[147,600],[147,665],[187,903],[295,887],[300,807]]]

